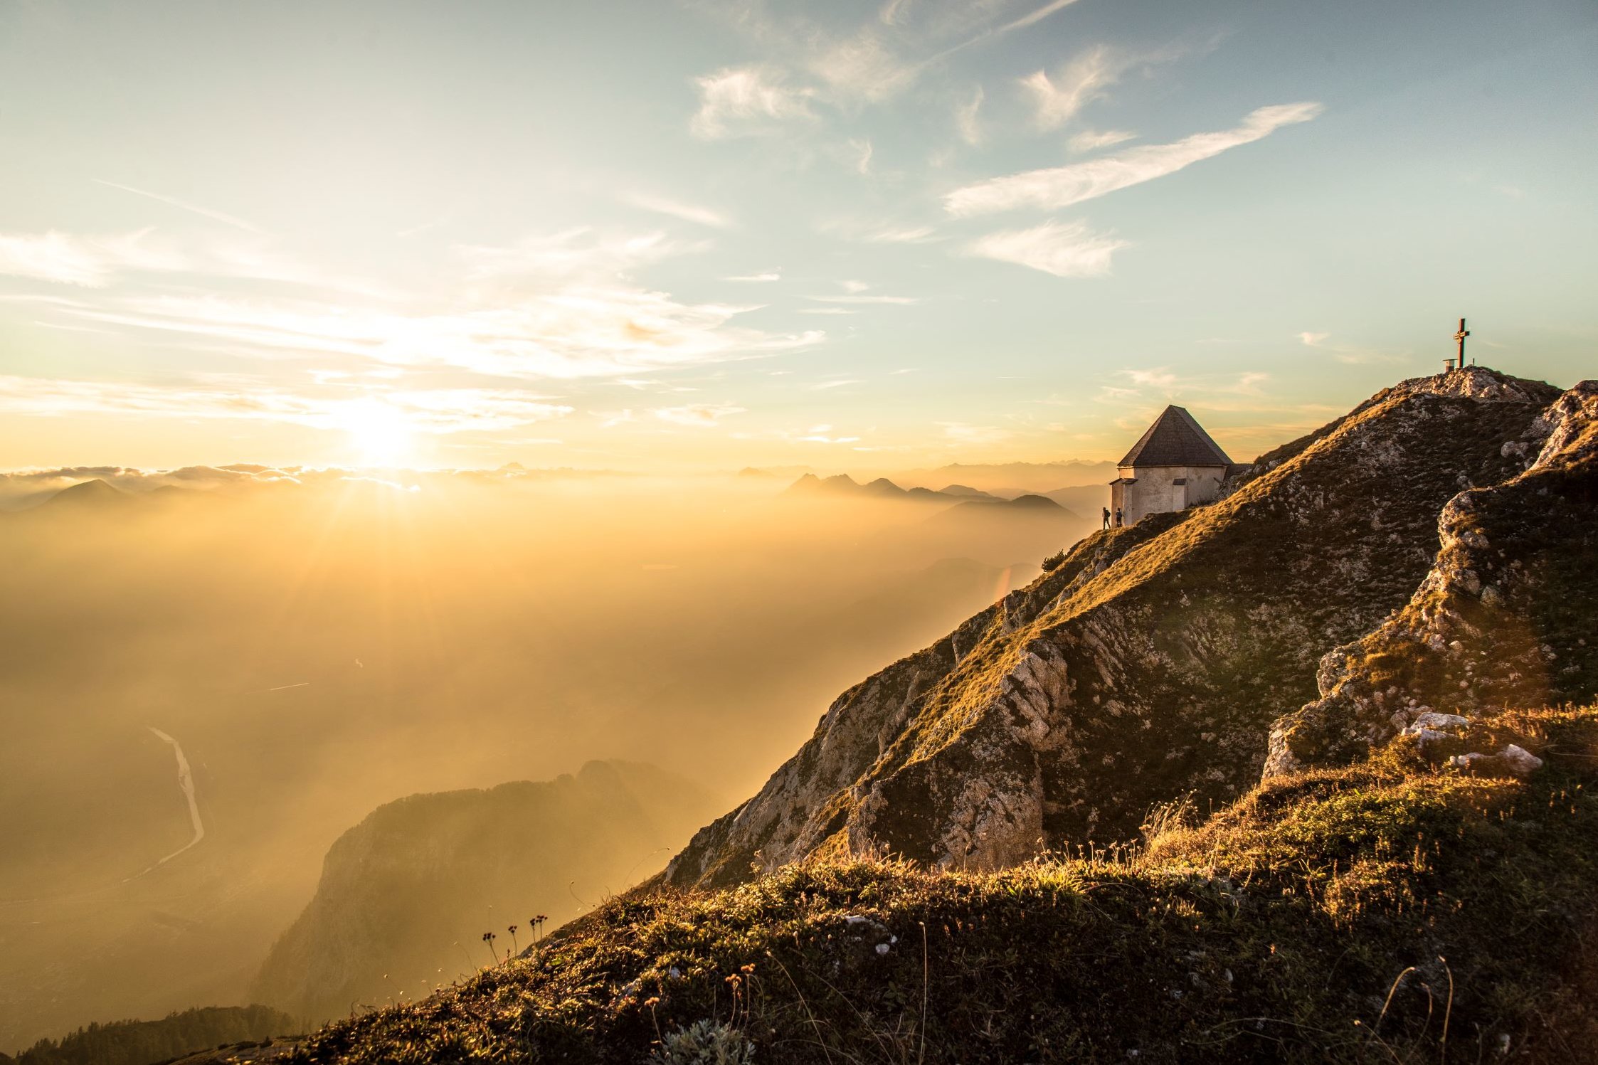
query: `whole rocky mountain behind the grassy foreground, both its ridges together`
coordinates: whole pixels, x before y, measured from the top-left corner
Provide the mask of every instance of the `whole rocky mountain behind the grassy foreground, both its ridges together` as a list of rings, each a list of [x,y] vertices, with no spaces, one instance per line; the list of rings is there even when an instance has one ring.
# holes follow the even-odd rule
[[[1588,607],[1560,589],[1595,557],[1593,390],[1408,380],[1211,505],[1082,540],[841,695],[665,883],[813,856],[1015,865],[1349,760],[1425,712],[1590,698],[1566,616]]]

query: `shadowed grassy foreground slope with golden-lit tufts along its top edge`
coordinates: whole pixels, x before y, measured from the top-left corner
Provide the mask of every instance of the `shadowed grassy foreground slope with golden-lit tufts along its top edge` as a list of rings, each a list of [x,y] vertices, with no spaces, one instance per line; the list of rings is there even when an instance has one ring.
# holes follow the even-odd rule
[[[1400,739],[1138,853],[983,875],[807,862],[617,899],[299,1060],[642,1060],[706,1017],[761,1062],[1435,1062],[1505,1038],[1590,1060],[1598,709],[1504,714],[1473,741],[1548,765],[1469,778]]]

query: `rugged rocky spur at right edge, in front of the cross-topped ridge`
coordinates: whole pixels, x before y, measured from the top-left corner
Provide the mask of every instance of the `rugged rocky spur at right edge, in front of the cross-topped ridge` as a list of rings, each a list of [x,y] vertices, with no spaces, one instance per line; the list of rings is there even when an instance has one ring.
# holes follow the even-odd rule
[[[1270,730],[1267,774],[1349,762],[1433,711],[1593,698],[1598,382],[1501,450],[1524,473],[1443,506],[1437,562],[1397,615],[1322,659],[1322,698]]]

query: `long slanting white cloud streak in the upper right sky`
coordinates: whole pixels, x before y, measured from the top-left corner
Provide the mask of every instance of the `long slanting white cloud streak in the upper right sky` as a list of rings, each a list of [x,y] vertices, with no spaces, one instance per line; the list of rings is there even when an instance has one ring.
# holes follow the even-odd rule
[[[1219,133],[1197,133],[1173,144],[1127,148],[1085,163],[1026,171],[965,185],[948,193],[943,206],[954,216],[992,214],[1016,208],[1067,208],[1155,177],[1175,174],[1227,148],[1251,144],[1282,126],[1309,121],[1320,104],[1277,104],[1251,112],[1242,125]]]

